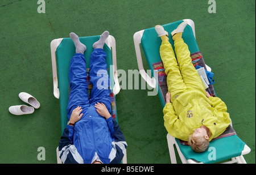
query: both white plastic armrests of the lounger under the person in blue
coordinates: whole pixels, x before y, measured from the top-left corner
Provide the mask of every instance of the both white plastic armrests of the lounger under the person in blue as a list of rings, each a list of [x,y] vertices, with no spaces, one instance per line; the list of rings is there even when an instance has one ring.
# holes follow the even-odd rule
[[[51,56],[52,56],[52,77],[53,77],[53,95],[59,99],[60,92],[58,88],[58,78],[57,78],[57,64],[56,64],[56,49],[60,45],[62,39],[55,39],[51,42]],[[112,50],[112,62],[113,62],[113,75],[114,75],[114,88],[113,93],[117,95],[120,91],[120,86],[118,82],[118,74],[117,74],[117,54],[115,50],[115,39],[112,35],[109,35],[108,39],[106,39],[105,44]]]

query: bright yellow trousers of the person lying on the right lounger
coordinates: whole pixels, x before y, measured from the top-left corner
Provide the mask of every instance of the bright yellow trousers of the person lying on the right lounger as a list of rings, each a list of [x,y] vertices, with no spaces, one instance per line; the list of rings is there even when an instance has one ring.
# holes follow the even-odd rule
[[[203,82],[192,64],[188,45],[181,38],[174,41],[174,48],[177,59],[169,41],[163,41],[160,46],[160,57],[167,75],[171,102],[180,93],[189,90],[198,90],[205,94]]]

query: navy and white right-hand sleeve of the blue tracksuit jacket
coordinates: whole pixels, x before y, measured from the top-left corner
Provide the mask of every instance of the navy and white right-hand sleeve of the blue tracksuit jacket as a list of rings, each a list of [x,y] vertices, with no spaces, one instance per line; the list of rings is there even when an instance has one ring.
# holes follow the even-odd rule
[[[112,136],[112,151],[109,154],[110,164],[119,164],[126,152],[127,143],[125,136],[115,119],[112,117],[106,119]]]

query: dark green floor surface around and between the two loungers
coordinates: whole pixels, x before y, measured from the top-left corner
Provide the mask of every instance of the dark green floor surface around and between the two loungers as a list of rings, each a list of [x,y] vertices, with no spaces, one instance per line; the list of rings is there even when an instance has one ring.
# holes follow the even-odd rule
[[[207,0],[46,0],[45,14],[38,13],[37,2],[0,1],[0,163],[56,163],[61,130],[52,85],[53,39],[108,30],[116,40],[118,70],[123,70],[119,78],[131,80],[129,70],[138,69],[134,33],[180,19],[195,22],[197,44],[215,74],[216,93],[228,106],[238,136],[251,148],[245,160],[255,163],[254,0],[216,1],[212,14]],[[116,96],[127,162],[170,163],[162,106],[139,83],[139,89],[122,84]],[[41,107],[27,116],[10,114],[9,106],[24,104],[19,92],[35,96]],[[38,160],[39,147],[45,148],[45,160]]]

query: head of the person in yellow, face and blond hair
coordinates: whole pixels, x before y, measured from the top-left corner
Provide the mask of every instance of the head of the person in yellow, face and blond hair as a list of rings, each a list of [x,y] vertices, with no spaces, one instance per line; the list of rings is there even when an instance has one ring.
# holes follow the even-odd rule
[[[188,138],[188,144],[195,152],[204,152],[209,147],[209,136],[204,127],[197,128]]]

